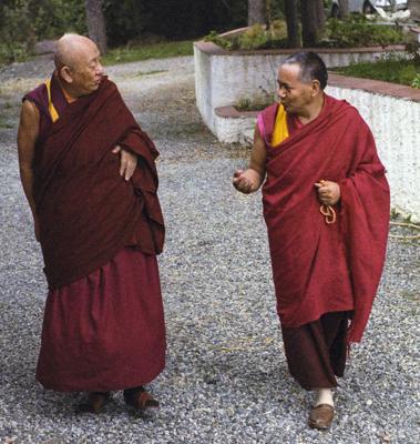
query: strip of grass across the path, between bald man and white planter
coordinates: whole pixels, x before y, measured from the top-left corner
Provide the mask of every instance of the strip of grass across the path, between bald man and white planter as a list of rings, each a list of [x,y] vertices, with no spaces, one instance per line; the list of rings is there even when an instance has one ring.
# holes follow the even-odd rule
[[[111,49],[103,57],[102,61],[105,65],[110,65],[116,63],[136,62],[147,59],[165,59],[168,57],[192,56],[193,53],[194,51],[192,41],[168,41]]]

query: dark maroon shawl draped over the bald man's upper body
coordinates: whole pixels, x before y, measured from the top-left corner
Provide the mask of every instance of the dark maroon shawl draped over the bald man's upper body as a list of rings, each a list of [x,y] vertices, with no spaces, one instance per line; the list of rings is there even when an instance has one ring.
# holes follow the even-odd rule
[[[116,144],[139,157],[130,181],[119,174]],[[106,77],[49,127],[35,147],[33,196],[51,289],[88,275],[127,244],[162,251],[157,155]]]

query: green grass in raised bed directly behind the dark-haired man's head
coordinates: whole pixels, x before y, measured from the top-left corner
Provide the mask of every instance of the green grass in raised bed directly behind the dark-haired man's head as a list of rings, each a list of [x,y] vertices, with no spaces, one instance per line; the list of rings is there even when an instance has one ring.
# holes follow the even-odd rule
[[[411,85],[416,75],[420,73],[420,65],[408,60],[381,60],[375,63],[334,68],[331,71],[350,77]]]

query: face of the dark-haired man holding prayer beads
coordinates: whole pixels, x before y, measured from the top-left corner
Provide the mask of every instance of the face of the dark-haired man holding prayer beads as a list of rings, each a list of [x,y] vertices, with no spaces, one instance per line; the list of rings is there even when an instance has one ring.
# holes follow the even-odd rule
[[[313,102],[313,82],[301,82],[298,64],[284,64],[277,78],[277,95],[290,114],[305,115],[308,105]]]

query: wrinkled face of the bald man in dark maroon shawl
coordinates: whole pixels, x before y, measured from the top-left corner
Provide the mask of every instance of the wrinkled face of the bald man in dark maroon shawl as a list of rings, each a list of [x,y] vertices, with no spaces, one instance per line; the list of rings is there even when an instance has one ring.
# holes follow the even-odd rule
[[[69,67],[72,89],[78,97],[86,95],[98,90],[103,75],[100,51],[93,42],[90,43],[78,52],[74,63]]]

